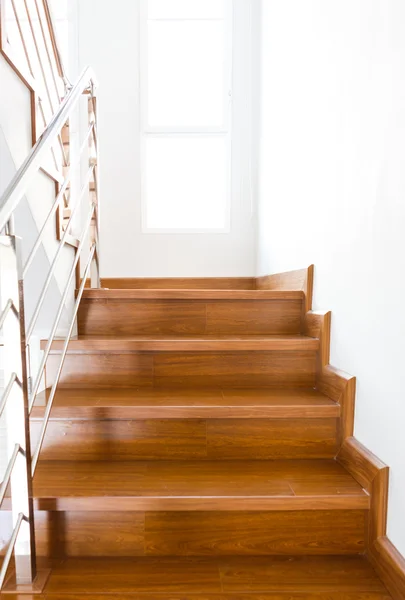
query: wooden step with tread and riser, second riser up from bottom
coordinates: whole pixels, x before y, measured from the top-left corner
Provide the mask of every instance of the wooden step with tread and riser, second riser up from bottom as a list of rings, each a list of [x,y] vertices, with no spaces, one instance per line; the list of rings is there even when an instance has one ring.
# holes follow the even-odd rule
[[[45,395],[41,400],[45,404]],[[44,410],[32,413],[33,443]],[[41,456],[333,458],[339,411],[338,404],[315,390],[60,390]]]

